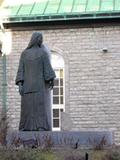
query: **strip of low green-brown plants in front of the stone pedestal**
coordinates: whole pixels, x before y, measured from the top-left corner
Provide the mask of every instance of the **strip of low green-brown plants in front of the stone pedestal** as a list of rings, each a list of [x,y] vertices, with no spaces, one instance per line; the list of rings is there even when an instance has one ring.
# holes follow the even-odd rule
[[[83,150],[83,149],[19,149],[0,150],[0,160],[120,160],[120,150]]]

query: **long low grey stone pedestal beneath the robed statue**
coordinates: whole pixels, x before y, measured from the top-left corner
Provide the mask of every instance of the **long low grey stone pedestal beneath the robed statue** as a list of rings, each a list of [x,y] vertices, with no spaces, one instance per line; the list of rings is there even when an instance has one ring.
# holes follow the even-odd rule
[[[110,146],[113,144],[113,135],[109,131],[82,132],[82,131],[60,131],[60,132],[11,132],[7,136],[7,145],[14,146],[43,146],[51,147],[72,146],[78,148],[95,147],[99,145]]]

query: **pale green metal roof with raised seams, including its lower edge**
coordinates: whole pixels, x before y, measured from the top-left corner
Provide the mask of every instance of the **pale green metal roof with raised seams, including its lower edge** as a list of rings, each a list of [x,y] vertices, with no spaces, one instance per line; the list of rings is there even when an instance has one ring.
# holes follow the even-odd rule
[[[3,23],[120,18],[120,0],[44,0],[6,6],[1,13]]]

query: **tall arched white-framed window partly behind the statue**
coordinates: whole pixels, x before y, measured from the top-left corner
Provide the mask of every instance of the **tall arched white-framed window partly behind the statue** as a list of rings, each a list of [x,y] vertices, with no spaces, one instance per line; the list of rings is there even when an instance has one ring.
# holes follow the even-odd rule
[[[52,55],[52,66],[56,73],[52,92],[52,130],[61,128],[61,112],[64,111],[64,60],[61,56]]]

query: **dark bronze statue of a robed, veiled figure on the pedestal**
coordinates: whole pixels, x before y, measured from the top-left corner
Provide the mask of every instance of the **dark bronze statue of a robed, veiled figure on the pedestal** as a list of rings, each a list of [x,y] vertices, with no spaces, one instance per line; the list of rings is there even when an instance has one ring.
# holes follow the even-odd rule
[[[55,72],[49,51],[40,32],[34,32],[28,47],[22,52],[16,76],[21,95],[21,131],[51,130],[50,90]]]

